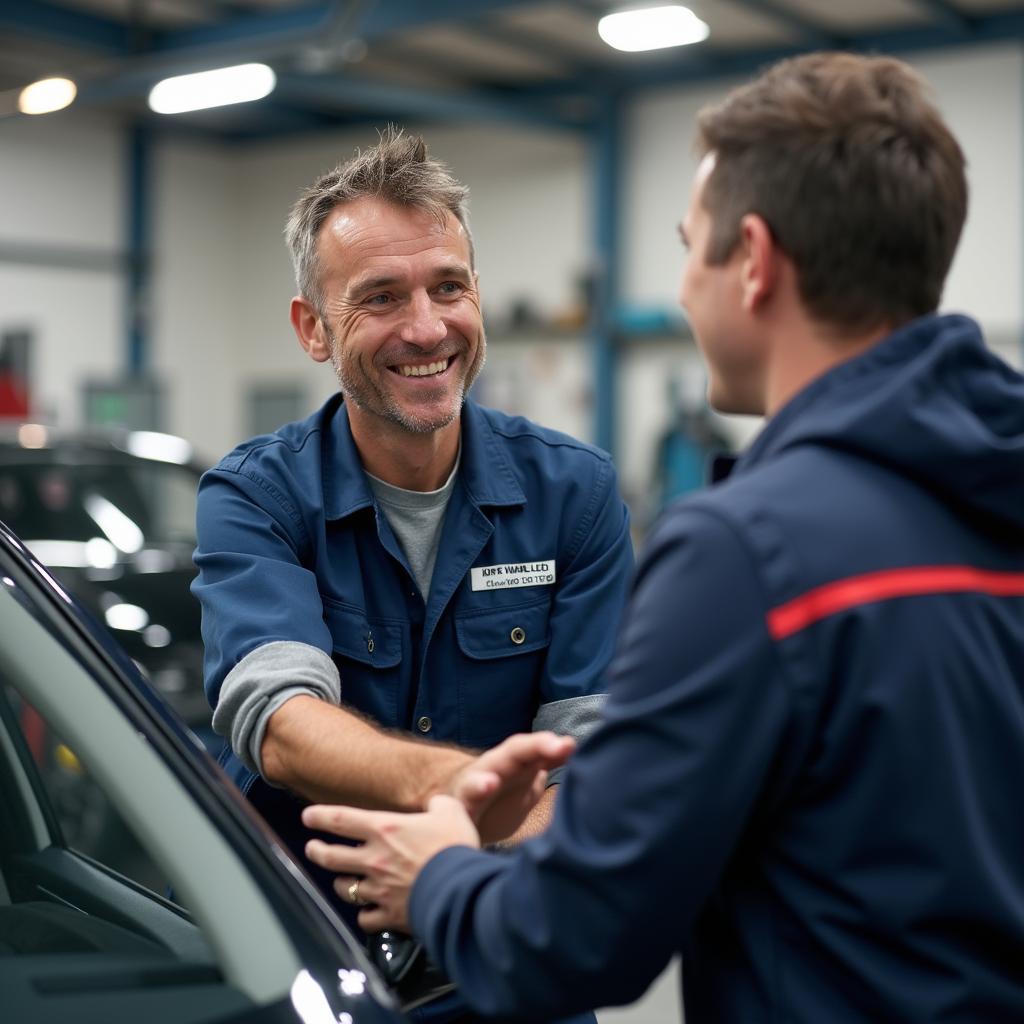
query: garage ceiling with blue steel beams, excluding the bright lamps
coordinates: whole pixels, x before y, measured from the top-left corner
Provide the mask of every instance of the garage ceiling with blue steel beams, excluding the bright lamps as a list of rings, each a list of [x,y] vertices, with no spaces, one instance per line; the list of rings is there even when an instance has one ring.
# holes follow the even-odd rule
[[[651,3],[655,0],[651,0]],[[606,0],[0,0],[0,116],[47,75],[79,106],[222,138],[372,120],[592,122],[609,95],[752,72],[812,48],[912,52],[1024,38],[1020,0],[690,0],[696,46],[618,53]],[[172,74],[250,60],[279,76],[256,103],[151,115]]]

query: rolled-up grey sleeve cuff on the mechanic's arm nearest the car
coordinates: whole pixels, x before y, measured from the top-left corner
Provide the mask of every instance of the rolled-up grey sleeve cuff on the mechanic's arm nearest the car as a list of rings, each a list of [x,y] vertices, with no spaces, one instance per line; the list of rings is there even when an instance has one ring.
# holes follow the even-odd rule
[[[330,655],[289,640],[257,647],[227,674],[213,712],[214,731],[229,739],[250,771],[262,775],[260,749],[267,722],[286,700],[299,694],[341,702],[341,679]]]

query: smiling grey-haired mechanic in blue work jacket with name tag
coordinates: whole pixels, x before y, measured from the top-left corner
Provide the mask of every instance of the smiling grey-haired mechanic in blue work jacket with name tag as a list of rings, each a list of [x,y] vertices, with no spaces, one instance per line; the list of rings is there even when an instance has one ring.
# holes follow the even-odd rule
[[[200,487],[214,728],[299,856],[308,800],[475,806],[471,752],[534,730],[536,760],[510,754],[528,788],[561,760],[544,733],[582,738],[602,702],[628,514],[605,453],[467,399],[485,340],[466,199],[394,130],[302,194],[291,321],[340,393]],[[487,805],[487,838],[542,831],[556,781],[515,835]]]

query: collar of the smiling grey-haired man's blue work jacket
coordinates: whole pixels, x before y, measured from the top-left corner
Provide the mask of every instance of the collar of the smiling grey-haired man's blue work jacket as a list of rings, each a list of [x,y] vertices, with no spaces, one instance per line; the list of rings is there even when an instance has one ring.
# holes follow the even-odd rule
[[[324,514],[343,519],[359,509],[372,508],[373,493],[352,438],[348,410],[335,395],[324,410]],[[462,462],[459,476],[477,506],[525,505],[523,494],[505,445],[495,433],[483,410],[466,400],[462,409]]]

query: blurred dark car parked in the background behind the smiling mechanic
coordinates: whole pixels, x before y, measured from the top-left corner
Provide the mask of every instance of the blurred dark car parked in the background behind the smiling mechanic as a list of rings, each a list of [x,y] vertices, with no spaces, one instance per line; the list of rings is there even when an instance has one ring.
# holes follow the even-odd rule
[[[0,520],[216,754],[188,590],[204,468],[171,434],[69,435],[34,423],[0,432]]]

